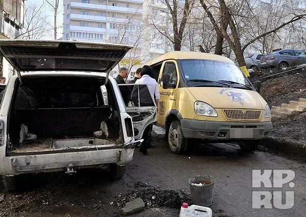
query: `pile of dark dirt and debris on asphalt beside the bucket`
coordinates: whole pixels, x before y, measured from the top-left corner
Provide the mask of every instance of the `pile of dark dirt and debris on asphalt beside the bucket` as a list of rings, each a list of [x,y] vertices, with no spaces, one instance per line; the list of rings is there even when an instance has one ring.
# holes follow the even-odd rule
[[[136,190],[127,194],[120,194],[112,205],[124,207],[125,203],[136,198],[141,198],[146,208],[152,207],[170,207],[180,209],[183,202],[191,204],[191,198],[183,190],[180,192],[174,190],[162,190],[158,186],[149,186],[147,184],[137,182]]]

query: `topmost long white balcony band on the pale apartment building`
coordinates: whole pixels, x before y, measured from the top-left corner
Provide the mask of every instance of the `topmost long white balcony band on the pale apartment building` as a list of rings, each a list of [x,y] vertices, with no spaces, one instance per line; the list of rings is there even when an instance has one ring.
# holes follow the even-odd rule
[[[125,12],[125,13],[142,13],[142,9],[138,8],[124,8],[124,7],[116,7],[116,6],[108,6],[108,5],[96,5],[96,4],[87,4],[87,3],[78,3],[71,2],[71,8],[82,8],[82,9],[97,9],[97,10],[108,10],[108,11],[117,11],[117,12]]]

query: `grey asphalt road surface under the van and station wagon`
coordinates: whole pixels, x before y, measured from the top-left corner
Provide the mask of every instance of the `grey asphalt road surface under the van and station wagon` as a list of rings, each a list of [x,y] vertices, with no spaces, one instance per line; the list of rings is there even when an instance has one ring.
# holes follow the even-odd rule
[[[304,162],[262,151],[243,153],[235,144],[224,143],[194,144],[187,155],[175,155],[162,135],[154,134],[152,140],[155,148],[149,149],[147,156],[136,150],[118,181],[99,170],[78,171],[71,177],[63,173],[25,176],[22,179],[27,187],[22,191],[12,194],[0,190],[0,216],[121,216],[117,202],[137,191],[139,183],[188,194],[188,179],[195,175],[216,179],[213,216],[306,216]],[[252,209],[252,170],[269,169],[295,172],[293,208]],[[290,189],[288,184],[284,189]],[[179,209],[165,205],[133,216],[179,216]]]

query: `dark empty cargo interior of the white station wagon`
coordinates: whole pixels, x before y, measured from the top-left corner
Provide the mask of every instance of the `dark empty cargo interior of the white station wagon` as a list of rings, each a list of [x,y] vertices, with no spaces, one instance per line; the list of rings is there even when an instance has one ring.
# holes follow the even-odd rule
[[[8,117],[8,154],[98,149],[122,143],[119,112],[103,77],[16,80]]]

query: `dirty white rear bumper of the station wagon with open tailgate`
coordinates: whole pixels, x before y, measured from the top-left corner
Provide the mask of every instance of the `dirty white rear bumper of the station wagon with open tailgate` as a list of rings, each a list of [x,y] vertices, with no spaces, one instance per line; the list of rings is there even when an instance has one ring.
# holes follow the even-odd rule
[[[0,175],[67,171],[69,164],[72,164],[74,171],[86,167],[104,167],[104,165],[110,163],[125,165],[132,160],[133,154],[134,149],[117,148],[96,151],[10,156],[3,158],[4,167],[2,167]]]

